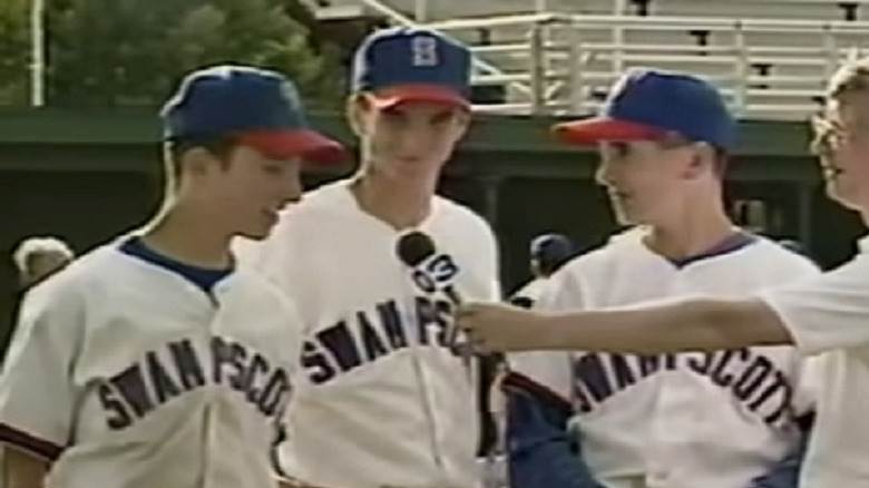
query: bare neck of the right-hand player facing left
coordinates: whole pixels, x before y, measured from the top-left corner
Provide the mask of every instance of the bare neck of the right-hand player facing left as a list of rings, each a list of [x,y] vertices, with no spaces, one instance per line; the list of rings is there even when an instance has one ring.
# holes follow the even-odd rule
[[[657,254],[681,260],[702,254],[733,234],[733,223],[721,199],[706,205],[686,205],[666,222],[652,225],[646,245]]]

